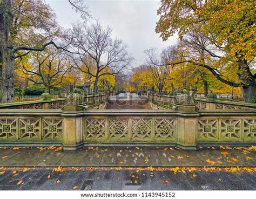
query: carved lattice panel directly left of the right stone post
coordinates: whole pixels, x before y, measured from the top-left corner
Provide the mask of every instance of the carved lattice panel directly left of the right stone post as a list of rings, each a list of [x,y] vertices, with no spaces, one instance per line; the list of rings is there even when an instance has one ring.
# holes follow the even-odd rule
[[[154,119],[154,138],[174,139],[174,119]]]

